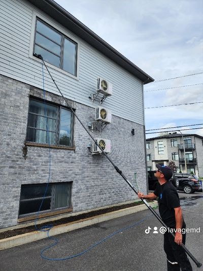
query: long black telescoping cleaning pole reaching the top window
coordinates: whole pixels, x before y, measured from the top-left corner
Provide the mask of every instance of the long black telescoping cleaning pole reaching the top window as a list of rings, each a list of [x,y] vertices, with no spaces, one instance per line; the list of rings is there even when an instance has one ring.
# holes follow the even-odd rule
[[[107,154],[104,152],[104,150],[99,146],[99,144],[96,142],[96,140],[92,137],[92,135],[90,134],[90,132],[87,130],[87,128],[83,125],[83,123],[80,121],[79,117],[77,116],[77,114],[75,113],[75,111],[72,109],[72,107],[69,105],[69,103],[66,101],[66,99],[64,98],[63,94],[61,93],[60,89],[58,88],[55,80],[53,79],[52,75],[50,74],[47,65],[44,62],[44,59],[42,57],[42,55],[40,54],[34,54],[36,57],[42,59],[42,62],[44,64],[44,66],[46,67],[51,79],[53,80],[56,88],[58,89],[60,95],[62,96],[62,98],[64,99],[65,103],[67,104],[67,106],[72,110],[73,114],[75,115],[75,117],[78,119],[79,123],[82,125],[82,127],[85,129],[85,131],[88,133],[88,135],[91,137],[91,139],[94,141],[94,143],[99,147],[99,149],[101,150],[101,152],[106,156],[106,158],[109,160],[109,162],[114,166],[115,170],[123,177],[123,179],[125,180],[125,182],[131,187],[131,189],[138,195],[138,191],[131,185],[131,183],[129,182],[129,180],[125,177],[125,175],[122,173],[122,171],[114,164],[114,162],[107,156]],[[148,204],[148,202],[141,198],[141,200],[145,203],[145,205],[150,209],[150,211],[152,212],[152,214],[159,220],[159,222],[168,230],[168,232],[170,232],[172,234],[173,237],[175,237],[174,233],[171,232],[168,227],[165,225],[165,223],[162,221],[161,217],[155,212],[155,210]],[[197,261],[197,259],[194,258],[194,256],[189,252],[189,250],[182,244],[181,245],[182,248],[185,250],[185,252],[187,253],[187,255],[195,262],[197,267],[201,267],[201,263]]]

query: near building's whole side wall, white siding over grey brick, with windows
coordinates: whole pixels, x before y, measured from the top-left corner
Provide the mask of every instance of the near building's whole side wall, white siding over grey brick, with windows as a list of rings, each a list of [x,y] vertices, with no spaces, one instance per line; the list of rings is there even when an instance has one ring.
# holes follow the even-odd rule
[[[143,84],[153,79],[54,1],[2,0],[0,13],[0,228],[33,221],[43,198],[40,219],[50,220],[136,198],[92,155],[71,108],[94,138],[111,140],[108,155],[146,193]],[[100,97],[112,112],[103,131],[92,129],[97,78],[113,85]]]

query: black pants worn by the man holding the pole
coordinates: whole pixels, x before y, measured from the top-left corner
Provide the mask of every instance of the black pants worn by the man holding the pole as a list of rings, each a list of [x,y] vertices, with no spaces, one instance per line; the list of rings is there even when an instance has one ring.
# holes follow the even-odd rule
[[[183,229],[186,228],[183,222]],[[174,232],[175,234],[175,232]],[[183,234],[182,243],[185,245],[186,233]],[[167,256],[167,271],[192,271],[192,266],[183,248],[175,243],[174,237],[170,232],[164,233],[164,251]]]

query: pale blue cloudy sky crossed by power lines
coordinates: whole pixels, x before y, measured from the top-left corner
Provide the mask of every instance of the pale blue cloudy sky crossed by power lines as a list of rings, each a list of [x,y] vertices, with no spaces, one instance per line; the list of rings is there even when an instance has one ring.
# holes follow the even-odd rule
[[[56,2],[155,80],[203,72],[202,0]],[[203,84],[147,92],[197,83],[203,74],[147,84],[145,107],[203,102]],[[145,122],[147,130],[201,124],[203,103],[146,109]]]

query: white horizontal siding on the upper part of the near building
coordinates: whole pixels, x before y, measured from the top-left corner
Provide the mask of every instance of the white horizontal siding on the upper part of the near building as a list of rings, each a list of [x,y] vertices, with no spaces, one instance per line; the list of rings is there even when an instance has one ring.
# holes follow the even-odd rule
[[[15,13],[13,12],[15,10]],[[23,0],[1,0],[0,3],[0,73],[27,84],[42,88],[42,64],[32,56],[35,19],[38,16],[59,32],[78,43],[77,77],[69,76],[59,68],[50,72],[66,98],[96,107],[88,98],[95,93],[96,78],[102,77],[113,84],[113,95],[104,106],[116,116],[144,124],[142,82],[111,61],[107,56],[69,32],[50,17]],[[15,27],[14,27],[15,26]],[[31,40],[31,45],[30,45]],[[45,71],[46,91],[60,95]]]

